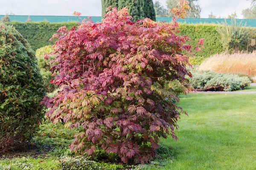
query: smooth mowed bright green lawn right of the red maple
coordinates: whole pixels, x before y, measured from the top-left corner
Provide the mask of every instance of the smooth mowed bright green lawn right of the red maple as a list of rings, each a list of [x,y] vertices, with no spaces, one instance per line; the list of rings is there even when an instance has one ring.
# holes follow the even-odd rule
[[[179,140],[162,140],[176,157],[161,170],[256,170],[256,94],[189,94],[178,105],[189,116]]]

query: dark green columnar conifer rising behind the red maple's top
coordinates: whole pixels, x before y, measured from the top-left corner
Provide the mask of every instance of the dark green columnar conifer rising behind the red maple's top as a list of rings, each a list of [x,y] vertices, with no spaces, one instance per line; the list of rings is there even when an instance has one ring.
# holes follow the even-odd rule
[[[152,0],[102,0],[102,17],[106,14],[109,6],[116,6],[118,9],[128,6],[129,14],[133,17],[133,21],[150,18],[156,20],[154,4]]]

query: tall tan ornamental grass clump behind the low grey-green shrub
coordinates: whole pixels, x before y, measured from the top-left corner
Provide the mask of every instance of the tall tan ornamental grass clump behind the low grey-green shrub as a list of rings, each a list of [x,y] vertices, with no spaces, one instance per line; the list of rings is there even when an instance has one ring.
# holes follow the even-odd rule
[[[233,73],[256,76],[256,51],[252,53],[215,54],[205,59],[199,70],[211,70],[218,73]]]

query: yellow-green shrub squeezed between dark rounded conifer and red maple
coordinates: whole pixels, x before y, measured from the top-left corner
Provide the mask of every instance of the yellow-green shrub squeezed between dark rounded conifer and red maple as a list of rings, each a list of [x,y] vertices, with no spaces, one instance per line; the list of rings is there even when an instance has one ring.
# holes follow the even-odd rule
[[[50,81],[54,79],[54,76],[52,76],[52,72],[50,71],[53,64],[49,63],[55,58],[55,56],[52,55],[49,56],[48,59],[44,59],[44,54],[49,54],[53,51],[54,49],[50,45],[47,45],[45,47],[37,49],[35,52],[35,57],[37,57],[38,59],[38,66],[40,69],[40,73],[44,79],[44,86],[46,88],[47,93],[54,91],[56,88],[55,84],[50,83]]]

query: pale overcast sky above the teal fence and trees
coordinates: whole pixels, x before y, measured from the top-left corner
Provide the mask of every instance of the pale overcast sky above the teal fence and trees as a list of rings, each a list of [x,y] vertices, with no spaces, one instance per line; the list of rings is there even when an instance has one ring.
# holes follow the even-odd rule
[[[166,0],[159,1],[166,6]],[[217,17],[227,17],[234,11],[242,18],[242,10],[250,7],[247,0],[199,0],[199,4],[203,9],[202,18],[207,18],[210,12]],[[101,0],[0,0],[0,14],[71,15],[74,11],[83,16],[101,16]]]

